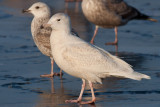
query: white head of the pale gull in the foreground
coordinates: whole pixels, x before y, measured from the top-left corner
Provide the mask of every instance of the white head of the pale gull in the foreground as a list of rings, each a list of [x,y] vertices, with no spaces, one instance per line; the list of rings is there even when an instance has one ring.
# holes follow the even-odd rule
[[[67,14],[57,13],[50,18],[46,26],[53,30],[70,32],[70,18]]]

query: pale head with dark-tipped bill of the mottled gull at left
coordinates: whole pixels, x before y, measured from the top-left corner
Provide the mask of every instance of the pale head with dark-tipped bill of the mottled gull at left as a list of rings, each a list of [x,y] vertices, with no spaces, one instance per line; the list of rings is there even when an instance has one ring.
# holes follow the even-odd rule
[[[29,9],[22,12],[31,13],[34,17],[50,17],[50,8],[43,2],[34,3]]]

